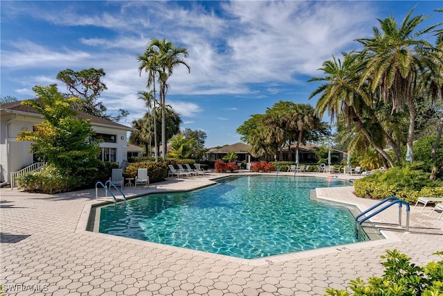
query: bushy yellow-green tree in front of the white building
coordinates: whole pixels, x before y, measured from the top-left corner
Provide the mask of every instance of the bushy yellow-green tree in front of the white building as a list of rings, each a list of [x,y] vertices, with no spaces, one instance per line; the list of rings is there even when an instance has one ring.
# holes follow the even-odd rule
[[[17,141],[31,141],[31,152],[40,160],[52,164],[67,175],[82,177],[96,170],[99,143],[93,141],[94,131],[89,121],[76,118],[71,109],[79,98],[65,98],[55,85],[35,86],[33,91],[38,100],[23,101],[42,114],[43,123],[35,130],[20,132]]]

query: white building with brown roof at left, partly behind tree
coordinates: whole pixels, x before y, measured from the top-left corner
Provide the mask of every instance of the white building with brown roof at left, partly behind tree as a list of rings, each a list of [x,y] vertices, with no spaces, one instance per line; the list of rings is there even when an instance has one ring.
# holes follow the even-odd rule
[[[120,123],[102,119],[84,112],[78,112],[81,119],[90,119],[96,139],[100,143],[100,159],[104,162],[122,162],[127,159],[127,132],[134,130]],[[17,141],[17,134],[33,130],[37,123],[42,123],[42,115],[21,102],[0,105],[0,178],[8,182],[11,172],[33,164],[36,159],[30,153],[29,141]]]

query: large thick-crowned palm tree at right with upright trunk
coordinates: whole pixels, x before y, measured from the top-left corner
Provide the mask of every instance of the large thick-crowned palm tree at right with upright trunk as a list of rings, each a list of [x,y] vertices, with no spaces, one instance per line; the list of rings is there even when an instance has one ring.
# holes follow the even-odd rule
[[[426,40],[426,35],[433,33],[440,24],[418,30],[417,27],[428,17],[411,17],[413,10],[408,12],[400,26],[392,15],[379,19],[381,31],[373,28],[372,38],[358,40],[363,44],[363,53],[367,57],[360,85],[370,80],[372,92],[379,92],[381,100],[392,104],[392,112],[408,108],[409,128],[406,142],[412,160],[416,114],[414,99],[420,84],[426,83],[423,81],[426,78],[425,73],[439,76],[441,73],[437,65],[442,62],[438,56],[439,51]],[[435,61],[438,63],[435,64]]]

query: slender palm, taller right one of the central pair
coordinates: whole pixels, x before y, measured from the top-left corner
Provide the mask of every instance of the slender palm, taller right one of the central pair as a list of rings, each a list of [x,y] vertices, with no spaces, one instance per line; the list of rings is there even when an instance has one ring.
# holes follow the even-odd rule
[[[159,83],[160,83],[160,104],[162,112],[162,123],[161,123],[161,142],[163,145],[163,159],[166,156],[166,126],[165,126],[165,96],[168,89],[168,78],[172,76],[172,72],[175,68],[179,67],[181,64],[185,65],[190,71],[190,67],[184,58],[188,57],[188,50],[184,47],[175,46],[172,42],[167,42],[164,38],[163,40],[153,39],[151,40],[149,46],[146,49],[147,55],[150,59],[154,60],[156,65],[155,71],[159,73]],[[182,58],[183,57],[183,58]]]

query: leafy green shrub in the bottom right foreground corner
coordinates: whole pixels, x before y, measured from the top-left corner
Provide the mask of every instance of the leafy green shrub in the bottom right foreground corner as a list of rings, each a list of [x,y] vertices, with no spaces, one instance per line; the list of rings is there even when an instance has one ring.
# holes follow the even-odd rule
[[[434,254],[442,255],[443,252]],[[423,295],[437,296],[443,293],[443,261],[430,262],[424,267],[410,263],[410,258],[397,250],[386,250],[386,259],[381,263],[384,272],[381,277],[370,277],[368,284],[362,279],[350,281],[355,296],[379,295]],[[348,296],[345,290],[326,289],[327,295]]]

